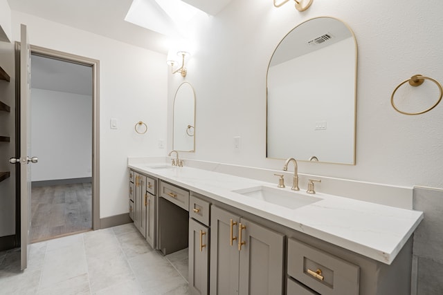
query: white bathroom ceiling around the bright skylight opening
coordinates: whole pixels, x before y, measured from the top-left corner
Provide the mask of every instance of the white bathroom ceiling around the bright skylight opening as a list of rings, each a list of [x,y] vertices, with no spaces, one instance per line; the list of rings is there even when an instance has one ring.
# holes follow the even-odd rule
[[[154,0],[145,0],[154,3]],[[168,1],[168,0],[158,0]],[[232,0],[183,0],[215,15]],[[11,10],[42,17],[127,44],[168,53],[168,37],[125,21],[132,0],[8,0]]]

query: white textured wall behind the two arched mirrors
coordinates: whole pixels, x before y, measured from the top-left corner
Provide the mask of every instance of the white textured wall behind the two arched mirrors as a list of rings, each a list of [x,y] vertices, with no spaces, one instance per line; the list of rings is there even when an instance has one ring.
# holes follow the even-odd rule
[[[183,157],[282,169],[283,160],[265,158],[266,68],[289,30],[332,16],[354,30],[358,44],[356,165],[300,162],[299,173],[442,188],[443,104],[418,116],[390,106],[394,88],[412,75],[443,83],[443,40],[435,37],[443,30],[442,11],[439,0],[316,0],[305,12],[292,3],[274,8],[269,0],[232,1],[194,37],[197,50],[186,80],[197,99],[196,153]],[[182,80],[169,78],[169,115]],[[425,85],[418,93],[426,93]],[[171,124],[168,120],[169,131]],[[239,150],[233,148],[237,135]]]

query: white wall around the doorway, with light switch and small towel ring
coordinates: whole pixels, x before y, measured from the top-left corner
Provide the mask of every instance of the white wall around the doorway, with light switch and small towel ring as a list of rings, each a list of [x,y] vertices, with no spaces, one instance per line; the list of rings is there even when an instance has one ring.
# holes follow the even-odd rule
[[[100,60],[100,218],[127,213],[127,156],[165,155],[158,141],[167,137],[166,56],[12,10],[14,40],[20,23],[30,44]],[[140,120],[145,135],[134,131]]]

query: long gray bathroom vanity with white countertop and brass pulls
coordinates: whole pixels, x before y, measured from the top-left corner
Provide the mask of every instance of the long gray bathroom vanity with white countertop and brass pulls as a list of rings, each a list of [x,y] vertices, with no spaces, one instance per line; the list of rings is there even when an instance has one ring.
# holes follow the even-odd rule
[[[189,247],[191,294],[410,293],[422,212],[164,163],[129,169],[130,215],[163,254]]]

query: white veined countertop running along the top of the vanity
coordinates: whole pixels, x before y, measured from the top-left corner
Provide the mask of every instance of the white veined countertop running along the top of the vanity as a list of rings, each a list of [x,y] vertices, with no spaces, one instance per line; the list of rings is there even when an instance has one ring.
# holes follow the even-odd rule
[[[190,167],[155,168],[165,163],[128,166],[386,264],[392,263],[424,217],[421,211],[325,193],[310,195],[301,190],[299,193],[323,200],[288,209],[233,192],[257,186],[276,187],[276,183]],[[282,190],[291,191],[291,185]]]

